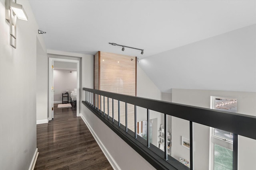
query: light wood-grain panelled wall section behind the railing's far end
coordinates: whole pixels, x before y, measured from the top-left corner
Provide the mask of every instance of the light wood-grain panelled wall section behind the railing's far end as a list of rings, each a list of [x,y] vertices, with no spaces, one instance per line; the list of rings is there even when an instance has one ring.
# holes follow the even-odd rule
[[[94,89],[136,96],[137,58],[98,51],[94,55]],[[100,105],[101,101],[101,105]],[[99,109],[103,111],[103,96]],[[97,100],[96,106],[97,106]],[[105,98],[105,113],[112,117],[112,99]],[[134,105],[128,104],[128,128],[134,131]],[[118,121],[118,101],[114,100],[114,119]],[[125,125],[125,103],[120,102],[120,123]]]

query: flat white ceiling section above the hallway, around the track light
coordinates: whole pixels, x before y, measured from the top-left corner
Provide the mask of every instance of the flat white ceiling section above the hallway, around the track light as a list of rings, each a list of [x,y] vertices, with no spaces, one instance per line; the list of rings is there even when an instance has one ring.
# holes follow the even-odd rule
[[[256,23],[255,0],[30,0],[46,47],[147,57]],[[144,49],[112,46],[109,42]]]

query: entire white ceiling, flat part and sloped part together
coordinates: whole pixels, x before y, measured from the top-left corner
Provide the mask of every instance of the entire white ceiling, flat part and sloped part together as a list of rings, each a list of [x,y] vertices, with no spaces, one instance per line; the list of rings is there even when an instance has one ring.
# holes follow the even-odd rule
[[[249,26],[256,24],[256,0],[30,0],[30,4],[40,29],[47,32],[42,35],[47,49],[136,56],[162,92],[172,88],[256,92],[256,31]],[[250,33],[232,33],[247,26],[244,30]],[[224,33],[228,39],[215,38]],[[206,41],[209,38],[215,43]],[[109,43],[144,49],[144,54]],[[217,50],[212,48],[216,45]],[[216,81],[214,70],[222,68],[234,74]]]

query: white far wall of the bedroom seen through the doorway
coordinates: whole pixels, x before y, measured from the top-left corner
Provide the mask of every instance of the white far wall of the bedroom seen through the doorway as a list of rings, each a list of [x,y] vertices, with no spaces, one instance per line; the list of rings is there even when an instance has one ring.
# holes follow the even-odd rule
[[[62,103],[62,93],[65,93],[67,90],[69,95],[68,101],[70,102],[70,93],[77,87],[77,71],[54,69],[53,75],[54,103]],[[66,101],[66,98],[64,100]]]

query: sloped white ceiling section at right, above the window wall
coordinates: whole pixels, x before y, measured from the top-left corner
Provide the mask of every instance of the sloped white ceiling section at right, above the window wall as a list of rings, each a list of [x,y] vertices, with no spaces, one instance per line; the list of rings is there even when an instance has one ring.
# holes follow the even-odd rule
[[[140,65],[161,92],[256,92],[255,47],[256,24],[146,57]]]

